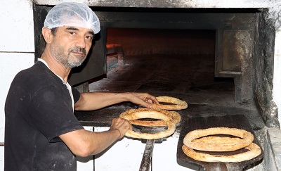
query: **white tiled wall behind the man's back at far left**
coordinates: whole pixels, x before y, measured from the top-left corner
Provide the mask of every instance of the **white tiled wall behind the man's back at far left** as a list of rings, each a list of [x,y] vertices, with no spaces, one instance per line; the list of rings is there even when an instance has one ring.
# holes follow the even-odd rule
[[[32,2],[0,0],[0,142],[4,142],[4,104],[17,72],[34,63]],[[0,170],[4,168],[4,147],[0,146]]]

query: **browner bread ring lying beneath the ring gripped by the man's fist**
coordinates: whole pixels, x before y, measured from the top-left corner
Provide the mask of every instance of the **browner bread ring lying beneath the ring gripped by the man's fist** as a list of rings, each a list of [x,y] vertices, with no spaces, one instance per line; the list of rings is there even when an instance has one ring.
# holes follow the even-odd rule
[[[126,112],[120,114],[120,118],[124,118],[126,115],[131,115],[131,113],[137,113],[142,111],[153,111],[153,113],[163,113],[164,115],[167,115],[171,118],[171,120],[178,124],[178,122],[181,122],[181,115],[178,114],[175,111],[167,111],[163,109],[158,108],[138,108],[138,109],[129,109],[126,110]],[[164,120],[130,120],[131,124],[133,125],[139,125],[139,126],[145,126],[145,127],[164,127],[166,126],[166,122]]]

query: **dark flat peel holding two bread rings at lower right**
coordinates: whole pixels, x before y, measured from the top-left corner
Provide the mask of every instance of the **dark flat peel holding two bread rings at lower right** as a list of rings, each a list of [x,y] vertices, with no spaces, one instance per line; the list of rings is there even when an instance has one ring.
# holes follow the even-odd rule
[[[263,148],[259,141],[256,139],[254,134],[254,143],[259,145],[261,148],[261,154],[256,158],[251,160],[239,162],[239,163],[208,163],[201,162],[189,158],[182,151],[183,139],[185,135],[195,129],[207,129],[209,127],[231,127],[244,129],[248,132],[254,134],[254,131],[251,129],[249,121],[244,115],[225,115],[225,116],[209,116],[209,117],[194,117],[188,118],[185,122],[182,123],[180,137],[178,139],[178,148],[177,148],[177,160],[180,165],[187,167],[187,165],[196,165],[201,167],[203,170],[211,171],[211,170],[244,170],[246,167],[251,167],[257,165],[263,159]],[[235,153],[242,153],[244,149],[235,152],[225,153],[227,155],[232,155]],[[220,154],[220,153],[217,153]]]

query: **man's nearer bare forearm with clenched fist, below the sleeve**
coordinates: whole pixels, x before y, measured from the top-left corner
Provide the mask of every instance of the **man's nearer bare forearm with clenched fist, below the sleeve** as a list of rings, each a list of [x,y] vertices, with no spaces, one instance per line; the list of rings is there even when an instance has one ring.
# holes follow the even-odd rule
[[[100,153],[117,139],[124,137],[128,129],[132,129],[128,120],[115,118],[112,120],[111,127],[105,132],[91,132],[85,129],[68,132],[60,135],[70,151],[77,156],[90,156]]]

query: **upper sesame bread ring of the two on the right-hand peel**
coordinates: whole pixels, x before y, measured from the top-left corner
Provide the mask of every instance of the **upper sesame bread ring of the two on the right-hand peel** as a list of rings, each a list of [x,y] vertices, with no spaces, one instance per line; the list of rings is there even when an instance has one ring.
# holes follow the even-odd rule
[[[229,141],[193,141],[195,139],[199,139],[200,137],[218,134],[240,137],[241,141],[235,143]],[[200,151],[235,151],[240,148],[244,148],[245,146],[249,146],[252,141],[254,141],[254,135],[243,129],[228,127],[211,127],[208,129],[197,129],[188,132],[188,134],[186,134],[183,139],[183,144],[185,144],[185,146],[188,146],[189,148]]]

